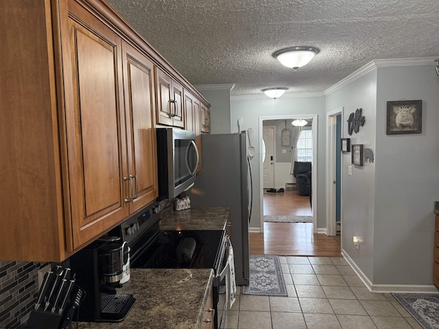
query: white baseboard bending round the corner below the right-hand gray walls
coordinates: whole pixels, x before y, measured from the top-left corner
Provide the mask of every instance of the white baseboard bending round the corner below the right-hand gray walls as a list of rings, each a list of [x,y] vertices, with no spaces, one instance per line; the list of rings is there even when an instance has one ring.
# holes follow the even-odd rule
[[[438,293],[433,284],[372,284],[344,249],[342,255],[371,293]]]

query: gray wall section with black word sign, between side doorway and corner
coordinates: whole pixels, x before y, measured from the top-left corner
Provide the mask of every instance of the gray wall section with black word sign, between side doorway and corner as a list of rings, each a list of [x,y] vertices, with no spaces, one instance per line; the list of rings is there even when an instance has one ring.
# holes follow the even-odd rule
[[[377,103],[376,69],[350,84],[327,95],[327,111],[344,107],[343,117],[347,120],[357,108],[362,108],[366,118],[359,132],[350,136],[348,123],[342,122],[342,138],[351,138],[351,145],[363,144],[375,153],[375,121]],[[348,175],[352,167],[352,176]],[[353,166],[351,152],[342,154],[342,245],[364,274],[372,280],[373,273],[373,228],[375,202],[375,163],[363,167]],[[355,249],[353,236],[359,236],[359,250]]]

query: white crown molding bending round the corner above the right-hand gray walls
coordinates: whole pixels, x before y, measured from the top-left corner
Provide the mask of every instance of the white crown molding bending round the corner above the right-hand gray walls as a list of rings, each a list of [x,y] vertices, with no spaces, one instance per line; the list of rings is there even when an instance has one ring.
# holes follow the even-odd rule
[[[361,66],[357,71],[354,71],[344,79],[340,80],[333,86],[324,90],[324,95],[330,95],[334,93],[346,84],[359,79],[363,75],[369,73],[370,71],[377,69],[378,67],[391,67],[391,66],[417,66],[417,65],[431,65],[434,64],[436,57],[419,57],[419,58],[395,58],[390,60],[371,60],[368,64]]]

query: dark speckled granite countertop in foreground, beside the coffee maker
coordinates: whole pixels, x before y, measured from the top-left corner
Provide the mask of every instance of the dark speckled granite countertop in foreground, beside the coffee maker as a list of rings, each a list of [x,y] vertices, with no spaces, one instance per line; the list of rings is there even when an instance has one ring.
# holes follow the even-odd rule
[[[136,298],[126,319],[112,324],[79,322],[78,328],[201,328],[212,269],[131,269],[130,275],[118,291]]]

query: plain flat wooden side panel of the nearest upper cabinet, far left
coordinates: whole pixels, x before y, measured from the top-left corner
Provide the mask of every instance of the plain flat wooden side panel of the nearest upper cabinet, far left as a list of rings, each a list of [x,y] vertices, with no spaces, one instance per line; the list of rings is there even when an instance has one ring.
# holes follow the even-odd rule
[[[0,1],[0,260],[64,256],[62,134],[47,7]]]

